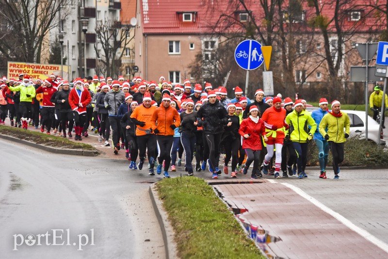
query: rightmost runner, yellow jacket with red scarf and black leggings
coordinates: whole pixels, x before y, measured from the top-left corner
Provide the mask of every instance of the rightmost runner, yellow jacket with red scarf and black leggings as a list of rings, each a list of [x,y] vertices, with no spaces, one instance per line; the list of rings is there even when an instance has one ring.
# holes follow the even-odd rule
[[[331,102],[332,111],[325,114],[319,124],[319,132],[329,143],[333,156],[334,179],[339,178],[339,163],[343,161],[343,143],[349,137],[350,119],[348,114],[341,112],[338,100]],[[327,132],[325,131],[327,127]],[[345,129],[345,130],[344,130]]]

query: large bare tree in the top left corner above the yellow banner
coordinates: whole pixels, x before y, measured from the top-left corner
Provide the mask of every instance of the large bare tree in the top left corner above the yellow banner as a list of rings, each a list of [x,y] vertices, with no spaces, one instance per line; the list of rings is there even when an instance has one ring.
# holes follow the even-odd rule
[[[40,63],[44,38],[68,12],[70,0],[0,0],[0,52],[7,58]],[[60,17],[60,19],[58,19]],[[16,40],[10,40],[15,38]]]

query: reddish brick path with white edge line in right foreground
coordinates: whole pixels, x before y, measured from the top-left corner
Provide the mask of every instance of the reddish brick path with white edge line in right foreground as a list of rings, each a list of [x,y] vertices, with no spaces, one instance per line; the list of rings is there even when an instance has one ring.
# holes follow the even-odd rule
[[[232,208],[247,209],[242,221],[264,229],[277,242],[267,255],[280,258],[387,258],[388,246],[289,183],[214,184]],[[221,182],[219,182],[221,183]],[[238,181],[236,181],[238,183]]]

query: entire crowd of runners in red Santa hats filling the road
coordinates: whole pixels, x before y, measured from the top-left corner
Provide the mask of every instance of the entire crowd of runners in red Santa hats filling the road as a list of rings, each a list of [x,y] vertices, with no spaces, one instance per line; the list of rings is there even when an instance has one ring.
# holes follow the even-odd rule
[[[125,150],[129,169],[142,170],[147,157],[148,174],[156,170],[165,178],[181,165],[183,153],[189,176],[208,169],[212,178],[222,171],[232,178],[307,178],[308,143],[314,141],[319,178],[327,178],[330,149],[338,179],[349,137],[348,115],[338,100],[329,104],[325,98],[310,113],[303,99],[265,97],[258,89],[251,101],[238,86],[229,99],[225,87],[193,87],[189,80],[173,86],[162,76],[159,82],[94,76],[69,83],[55,75],[33,81],[20,74],[17,80],[0,78],[0,86],[0,124],[8,116],[11,126],[64,138],[74,134],[77,141],[93,131],[114,154]]]

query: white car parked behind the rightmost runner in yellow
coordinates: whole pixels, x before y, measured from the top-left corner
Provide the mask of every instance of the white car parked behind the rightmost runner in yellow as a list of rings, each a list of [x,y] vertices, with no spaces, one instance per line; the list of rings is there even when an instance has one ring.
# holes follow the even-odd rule
[[[342,111],[342,110],[341,110]],[[343,110],[343,112],[349,115],[350,119],[350,137],[360,135],[365,138],[365,112]],[[379,133],[379,124],[368,115],[368,140],[372,140],[376,144],[379,143],[385,145],[383,139],[383,130]]]

